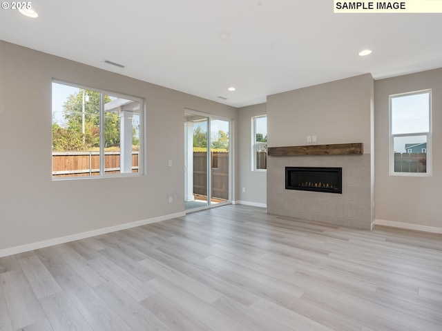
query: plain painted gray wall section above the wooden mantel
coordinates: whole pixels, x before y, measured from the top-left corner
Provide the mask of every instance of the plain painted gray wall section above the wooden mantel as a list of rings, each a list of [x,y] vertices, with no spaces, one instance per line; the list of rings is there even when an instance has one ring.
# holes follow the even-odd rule
[[[269,147],[364,143],[372,146],[373,78],[363,74],[267,97]]]

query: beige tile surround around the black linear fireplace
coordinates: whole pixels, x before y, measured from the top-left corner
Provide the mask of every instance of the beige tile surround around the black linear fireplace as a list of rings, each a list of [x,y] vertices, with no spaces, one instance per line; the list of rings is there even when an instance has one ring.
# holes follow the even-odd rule
[[[267,212],[352,228],[372,225],[370,154],[267,157]],[[285,189],[285,167],[343,168],[342,194]]]

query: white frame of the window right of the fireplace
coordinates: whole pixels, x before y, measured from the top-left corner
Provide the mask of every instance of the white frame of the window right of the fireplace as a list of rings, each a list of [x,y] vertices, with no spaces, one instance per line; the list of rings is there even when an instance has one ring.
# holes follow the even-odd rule
[[[406,97],[417,94],[428,94],[428,132],[413,132],[413,133],[392,133],[392,101],[398,97]],[[389,157],[390,157],[390,176],[402,177],[432,177],[432,89],[417,90],[413,92],[403,92],[398,94],[391,94],[389,96]],[[426,148],[426,172],[396,172],[394,171],[394,138],[396,137],[427,137]]]

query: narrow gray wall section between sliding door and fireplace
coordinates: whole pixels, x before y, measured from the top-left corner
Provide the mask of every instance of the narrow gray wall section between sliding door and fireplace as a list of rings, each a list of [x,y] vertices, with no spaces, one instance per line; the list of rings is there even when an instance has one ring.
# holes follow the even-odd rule
[[[267,172],[252,171],[252,122],[251,118],[265,115],[266,103],[238,109],[239,175],[238,200],[249,205],[265,207],[267,203]],[[242,192],[242,188],[245,192]]]

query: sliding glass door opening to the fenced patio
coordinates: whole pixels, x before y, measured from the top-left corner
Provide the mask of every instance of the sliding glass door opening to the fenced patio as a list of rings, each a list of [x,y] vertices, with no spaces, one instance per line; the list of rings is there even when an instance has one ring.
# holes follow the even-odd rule
[[[184,113],[184,201],[199,210],[231,201],[230,121]]]

